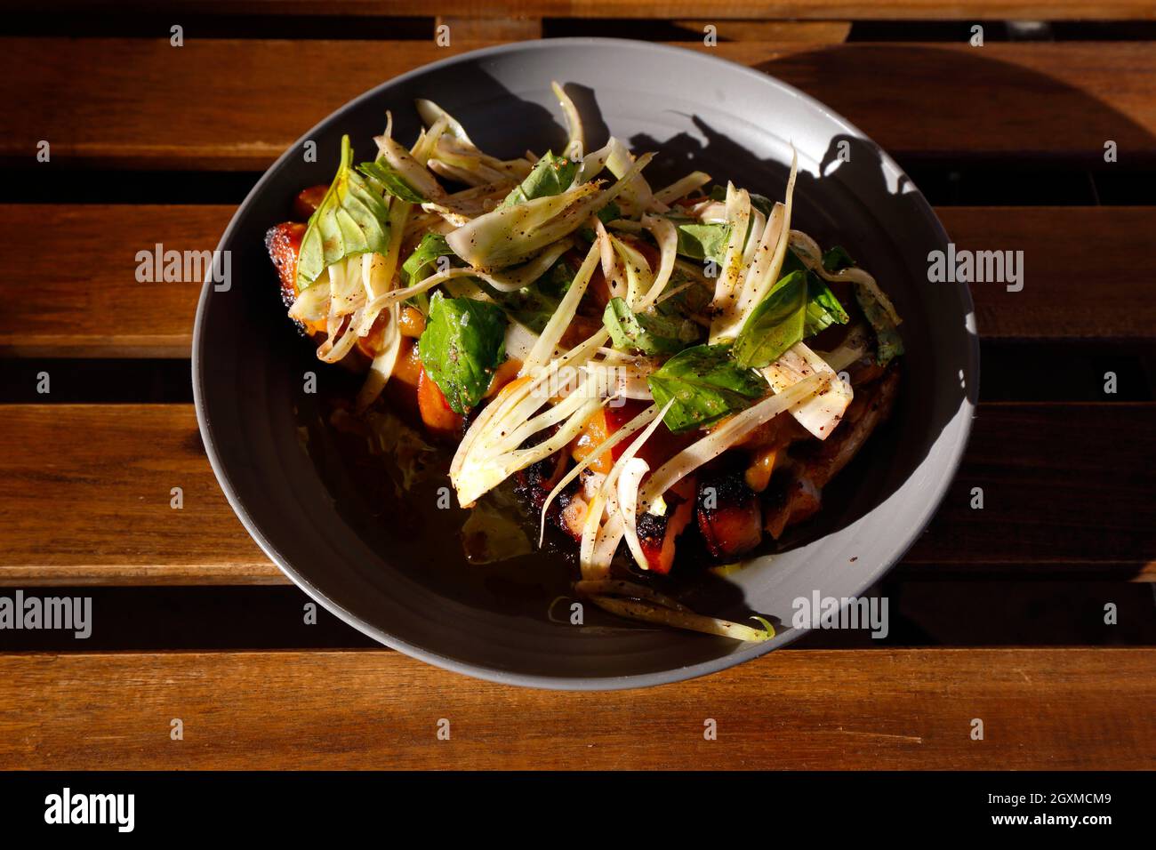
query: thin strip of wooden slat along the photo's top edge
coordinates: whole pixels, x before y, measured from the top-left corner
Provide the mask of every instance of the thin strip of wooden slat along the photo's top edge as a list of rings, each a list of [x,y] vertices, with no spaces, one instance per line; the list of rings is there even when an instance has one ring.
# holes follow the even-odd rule
[[[0,8],[24,8],[3,0]],[[151,12],[144,0],[51,0],[60,12]],[[429,15],[425,0],[169,0],[171,13],[214,15]],[[703,0],[439,0],[443,15],[474,17],[689,17],[703,14]],[[1144,0],[719,0],[719,19],[847,20],[1128,20],[1156,16]]]

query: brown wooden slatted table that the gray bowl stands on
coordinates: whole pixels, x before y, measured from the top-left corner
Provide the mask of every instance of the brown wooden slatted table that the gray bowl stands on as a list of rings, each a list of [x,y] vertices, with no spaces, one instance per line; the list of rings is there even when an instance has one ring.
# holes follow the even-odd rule
[[[147,5],[50,5],[75,19],[81,37],[0,38],[0,165],[9,177],[0,193],[0,357],[21,380],[42,367],[67,375],[94,362],[127,375],[187,361],[199,286],[138,283],[135,252],[154,243],[212,249],[236,193],[170,191],[191,185],[181,172],[249,185],[305,128],[383,79],[484,43],[565,34],[573,24],[561,19],[665,17],[653,22],[661,32],[690,39],[713,22],[717,47],[684,46],[800,87],[909,168],[950,179],[991,167],[1085,180],[1088,195],[1060,204],[1009,206],[990,190],[970,206],[940,199],[961,247],[1023,250],[1031,286],[1014,295],[975,289],[985,357],[1008,370],[985,368],[985,386],[1000,391],[980,405],[942,509],[888,579],[925,599],[983,576],[1009,589],[1002,615],[1018,612],[1025,622],[1048,604],[1031,583],[1062,582],[1066,604],[1076,600],[1085,620],[1070,641],[1025,628],[999,648],[980,648],[983,621],[973,636],[926,645],[808,649],[808,638],[703,680],[601,695],[490,685],[384,649],[323,651],[286,638],[291,650],[246,651],[243,627],[200,620],[190,628],[232,628],[231,649],[0,655],[0,769],[429,768],[450,759],[462,768],[1156,767],[1156,640],[1144,637],[1153,630],[1129,630],[1131,645],[1089,637],[1111,629],[1091,628],[1105,599],[1127,596],[1129,616],[1154,619],[1136,591],[1156,584],[1135,583],[1156,579],[1156,401],[1146,372],[1156,194],[1142,191],[1156,169],[1156,43],[992,36],[972,47],[912,42],[918,24],[906,23],[892,24],[888,40],[859,40],[850,23],[983,21],[996,34],[1003,20],[1154,19],[1151,3],[443,0],[429,35],[442,23],[457,36],[439,47],[432,37],[312,37],[314,16],[348,15],[357,28],[383,15],[430,16],[427,3],[201,0],[171,3],[165,15],[207,21],[225,36],[232,15],[258,16],[269,35],[202,38],[194,25],[179,49],[168,24],[144,36],[129,27],[138,14],[155,17]],[[112,23],[87,36],[84,15],[101,14],[94,6]],[[588,25],[613,34],[625,23]],[[310,74],[287,105],[287,67],[341,73]],[[35,160],[40,140],[51,142],[47,164]],[[1116,165],[1103,158],[1109,140],[1120,151]],[[1117,173],[1132,184],[1127,202],[1098,202],[1101,182]],[[97,189],[86,199],[96,202],[74,202],[89,179]],[[149,204],[125,202],[121,185]],[[1059,390],[1042,398],[1031,375],[1014,368],[1025,352],[1084,384],[1052,382]],[[1103,363],[1121,357],[1135,367],[1135,385],[1119,396],[1127,400],[1099,389]],[[86,402],[84,392],[72,387],[80,402],[62,404],[6,389],[0,596],[99,585],[131,606],[166,589],[223,594],[231,585],[245,605],[268,606],[280,591],[262,585],[286,579],[221,494],[187,396],[157,404],[142,390],[109,404]],[[173,481],[184,489],[181,511],[169,508]],[[986,494],[983,511],[969,504],[976,486]],[[1081,596],[1085,586],[1095,591]],[[3,640],[0,631],[0,650]],[[348,645],[363,644],[351,636]],[[275,708],[287,704],[294,710]],[[185,723],[180,742],[169,737],[175,717]],[[623,717],[636,719],[624,726]],[[707,717],[719,724],[717,741],[703,740]],[[983,741],[970,736],[977,717]],[[451,741],[436,738],[439,718],[451,720]]]

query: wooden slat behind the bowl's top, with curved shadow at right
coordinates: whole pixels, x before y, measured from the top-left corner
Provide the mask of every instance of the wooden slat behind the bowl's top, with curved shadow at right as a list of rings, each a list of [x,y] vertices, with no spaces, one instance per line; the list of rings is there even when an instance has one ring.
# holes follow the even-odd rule
[[[432,42],[0,39],[0,161],[260,169],[346,101],[477,46]],[[1103,163],[1156,156],[1156,44],[721,43],[696,50],[761,68],[844,113],[892,154]],[[52,61],[46,61],[46,58]],[[287,88],[287,71],[310,74]],[[35,68],[36,73],[30,69]],[[1073,117],[1079,116],[1079,120]]]

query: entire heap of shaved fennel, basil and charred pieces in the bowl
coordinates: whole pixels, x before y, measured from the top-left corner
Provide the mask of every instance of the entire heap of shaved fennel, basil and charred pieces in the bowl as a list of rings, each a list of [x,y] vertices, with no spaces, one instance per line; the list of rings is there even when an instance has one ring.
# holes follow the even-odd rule
[[[766,489],[772,470],[812,481],[815,464],[842,467],[866,438],[860,420],[837,431],[854,398],[843,370],[857,389],[894,387],[899,316],[847,251],[824,254],[792,229],[794,154],[781,200],[707,187],[703,171],[653,191],[643,175],[653,153],[636,157],[615,136],[587,151],[575,102],[557,82],[551,93],[565,156],[494,156],[427,99],[415,102],[424,130],[412,148],[388,112],[373,162],[354,168],[344,139],[309,223],[266,237],[289,315],[320,360],[364,372],[356,413],[341,411],[348,422],[381,415],[373,405],[395,380],[431,443],[458,438],[449,478],[460,505],[489,494],[481,508],[492,507],[517,475],[540,505],[539,546],[548,518],[578,539],[579,598],[640,622],[766,641],[775,630],[762,618],[704,616],[620,570],[673,567],[677,581],[687,523],[704,535],[716,524],[701,501],[704,465],[744,473],[736,486],[749,491],[727,497],[769,500],[764,511],[781,495]],[[314,200],[303,193],[295,209]],[[850,325],[842,343],[814,350],[813,338],[838,339],[837,325]],[[775,422],[784,413],[802,428]],[[719,517],[712,553],[739,557],[746,549],[726,547],[757,542],[744,532],[728,542]],[[769,533],[792,517],[764,516]]]

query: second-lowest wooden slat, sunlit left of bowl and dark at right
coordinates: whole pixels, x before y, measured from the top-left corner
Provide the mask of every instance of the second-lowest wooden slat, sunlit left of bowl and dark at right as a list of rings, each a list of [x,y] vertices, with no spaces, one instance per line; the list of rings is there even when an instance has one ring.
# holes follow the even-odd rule
[[[1154,423],[1153,404],[981,405],[904,569],[1156,581],[1156,483],[1136,463],[1156,454]],[[221,494],[190,406],[3,406],[0,433],[0,585],[286,581]]]

